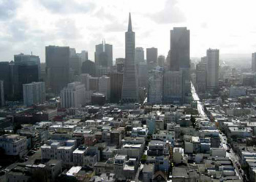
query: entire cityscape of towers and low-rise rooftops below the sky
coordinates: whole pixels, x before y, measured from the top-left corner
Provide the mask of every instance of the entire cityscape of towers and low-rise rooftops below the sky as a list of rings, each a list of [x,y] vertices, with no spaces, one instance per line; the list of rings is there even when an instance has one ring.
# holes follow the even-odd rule
[[[145,60],[130,15],[125,40],[115,64],[105,40],[94,62],[56,46],[0,62],[0,181],[256,181],[256,55],[248,72],[219,50],[192,63],[173,28]]]

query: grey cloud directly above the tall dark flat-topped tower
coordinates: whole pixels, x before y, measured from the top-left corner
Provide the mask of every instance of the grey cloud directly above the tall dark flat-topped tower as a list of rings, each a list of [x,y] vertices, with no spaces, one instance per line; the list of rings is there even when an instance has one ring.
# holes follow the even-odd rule
[[[183,12],[177,6],[177,0],[167,0],[162,11],[149,15],[152,20],[159,24],[181,23],[186,20]]]

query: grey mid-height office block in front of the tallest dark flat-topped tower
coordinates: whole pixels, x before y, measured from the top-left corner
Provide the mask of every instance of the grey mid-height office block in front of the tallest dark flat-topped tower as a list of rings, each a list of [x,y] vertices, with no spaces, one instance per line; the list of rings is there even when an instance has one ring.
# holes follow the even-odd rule
[[[162,103],[181,104],[182,100],[182,71],[167,71],[163,79]]]

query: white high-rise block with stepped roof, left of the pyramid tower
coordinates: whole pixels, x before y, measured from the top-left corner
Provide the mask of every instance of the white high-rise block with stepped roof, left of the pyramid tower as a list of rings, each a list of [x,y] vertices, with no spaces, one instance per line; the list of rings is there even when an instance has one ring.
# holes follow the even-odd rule
[[[80,82],[67,84],[61,90],[61,108],[78,108],[86,103],[86,87]]]

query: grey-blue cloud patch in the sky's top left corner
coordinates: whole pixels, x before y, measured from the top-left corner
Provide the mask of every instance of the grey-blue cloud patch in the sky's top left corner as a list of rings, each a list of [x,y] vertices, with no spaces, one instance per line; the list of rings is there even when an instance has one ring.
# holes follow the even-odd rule
[[[0,20],[8,20],[15,16],[18,8],[16,0],[0,0]]]

